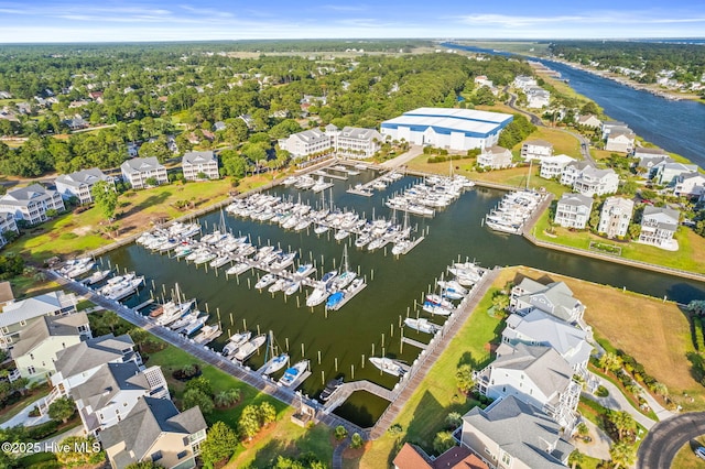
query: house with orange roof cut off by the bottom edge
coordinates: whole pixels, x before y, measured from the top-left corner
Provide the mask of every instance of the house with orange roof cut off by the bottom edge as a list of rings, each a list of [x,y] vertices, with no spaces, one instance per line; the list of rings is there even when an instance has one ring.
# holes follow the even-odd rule
[[[433,457],[410,443],[404,443],[392,465],[394,469],[489,469],[465,446],[454,446],[441,456]]]

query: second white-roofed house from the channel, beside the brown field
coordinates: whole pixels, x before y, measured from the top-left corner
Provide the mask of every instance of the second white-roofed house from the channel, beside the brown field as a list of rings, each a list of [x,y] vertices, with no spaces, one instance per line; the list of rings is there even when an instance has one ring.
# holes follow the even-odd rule
[[[510,315],[502,330],[502,343],[553,347],[575,374],[587,377],[587,362],[593,351],[587,332],[541,310],[534,309],[524,316]]]

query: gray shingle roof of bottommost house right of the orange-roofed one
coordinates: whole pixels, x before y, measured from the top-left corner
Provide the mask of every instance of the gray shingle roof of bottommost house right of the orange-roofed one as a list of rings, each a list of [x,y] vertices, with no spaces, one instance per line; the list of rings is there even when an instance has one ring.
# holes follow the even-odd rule
[[[463,419],[531,468],[565,469],[563,461],[574,449],[561,437],[558,424],[513,396],[486,410],[474,407]]]

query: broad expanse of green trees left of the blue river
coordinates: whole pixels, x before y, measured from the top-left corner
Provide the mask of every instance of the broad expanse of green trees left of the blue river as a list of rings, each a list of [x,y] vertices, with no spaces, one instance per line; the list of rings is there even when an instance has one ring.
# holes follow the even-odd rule
[[[474,61],[431,53],[239,58],[229,55],[226,45],[234,47],[82,44],[3,50],[0,91],[11,98],[0,101],[0,109],[11,118],[0,119],[0,135],[28,140],[17,150],[0,143],[0,173],[33,177],[117,167],[128,157],[130,142],[144,142],[140,155],[161,161],[194,145],[226,149],[230,160],[240,159],[228,162],[240,173],[243,164],[285,157],[278,153],[276,140],[311,126],[373,128],[421,106],[455,106],[459,94],[474,91],[477,75],[503,86],[517,75],[531,74],[528,64],[505,57]],[[89,98],[96,91],[100,98]],[[23,101],[25,110],[17,111]],[[98,129],[70,132],[76,117]],[[223,123],[219,131],[214,131],[216,122]]]

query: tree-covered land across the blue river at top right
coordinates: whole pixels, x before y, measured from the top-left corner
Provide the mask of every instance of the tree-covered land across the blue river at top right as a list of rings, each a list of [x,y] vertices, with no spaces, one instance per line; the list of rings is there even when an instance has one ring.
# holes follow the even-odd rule
[[[570,62],[593,65],[599,69],[623,67],[641,72],[640,83],[655,83],[659,73],[672,70],[669,78],[691,84],[705,74],[705,46],[627,41],[560,41],[551,52]]]

